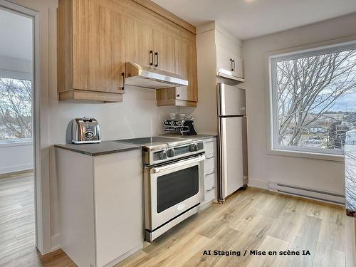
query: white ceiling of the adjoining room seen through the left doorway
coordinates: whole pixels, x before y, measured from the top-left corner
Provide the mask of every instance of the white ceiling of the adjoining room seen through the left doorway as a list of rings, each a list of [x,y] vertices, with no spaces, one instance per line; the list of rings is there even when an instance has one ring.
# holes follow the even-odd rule
[[[0,56],[32,60],[32,19],[0,9]]]

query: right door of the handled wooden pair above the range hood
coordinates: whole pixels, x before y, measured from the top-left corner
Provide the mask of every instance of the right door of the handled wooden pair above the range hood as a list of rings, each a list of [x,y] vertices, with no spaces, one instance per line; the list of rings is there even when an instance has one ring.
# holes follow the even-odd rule
[[[160,70],[174,73],[174,38],[162,31],[153,31],[153,51],[158,53],[158,66]],[[157,56],[155,56],[157,63]]]

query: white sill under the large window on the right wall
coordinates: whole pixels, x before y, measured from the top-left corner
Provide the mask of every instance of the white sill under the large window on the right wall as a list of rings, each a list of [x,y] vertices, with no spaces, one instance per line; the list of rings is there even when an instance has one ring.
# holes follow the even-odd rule
[[[322,154],[322,153],[301,152],[301,151],[293,151],[293,150],[276,150],[276,149],[269,150],[268,154],[285,156],[285,157],[303,157],[307,159],[320,159],[320,160],[328,160],[333,162],[344,162],[344,155],[330,155],[330,154]]]

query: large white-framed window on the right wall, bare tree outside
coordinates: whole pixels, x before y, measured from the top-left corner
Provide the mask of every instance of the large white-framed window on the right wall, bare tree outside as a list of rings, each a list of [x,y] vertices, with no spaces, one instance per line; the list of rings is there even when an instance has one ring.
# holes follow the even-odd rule
[[[342,155],[356,129],[356,44],[271,56],[272,150]]]

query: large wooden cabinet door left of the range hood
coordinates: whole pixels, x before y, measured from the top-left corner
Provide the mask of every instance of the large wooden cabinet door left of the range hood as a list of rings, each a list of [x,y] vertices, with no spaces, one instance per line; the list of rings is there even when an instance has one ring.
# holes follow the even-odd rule
[[[125,69],[122,16],[91,0],[74,3],[73,88],[117,93]]]

